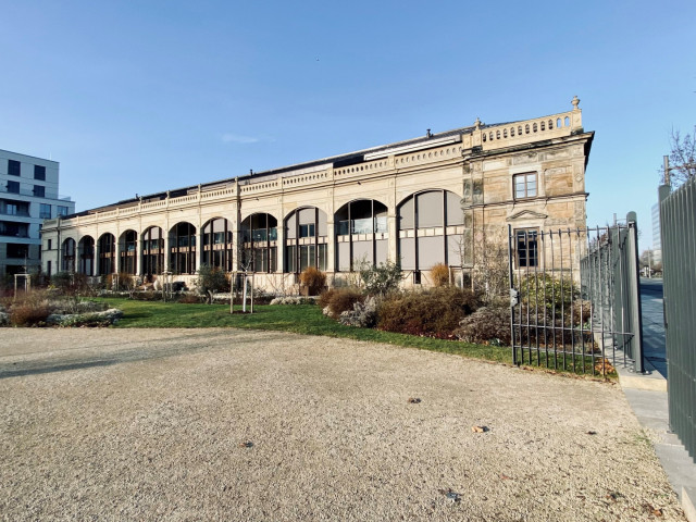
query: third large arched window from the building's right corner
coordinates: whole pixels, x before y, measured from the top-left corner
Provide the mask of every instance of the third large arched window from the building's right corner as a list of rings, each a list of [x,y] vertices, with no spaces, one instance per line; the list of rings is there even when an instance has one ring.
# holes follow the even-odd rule
[[[326,214],[315,207],[293,211],[285,219],[285,272],[308,266],[326,270]]]

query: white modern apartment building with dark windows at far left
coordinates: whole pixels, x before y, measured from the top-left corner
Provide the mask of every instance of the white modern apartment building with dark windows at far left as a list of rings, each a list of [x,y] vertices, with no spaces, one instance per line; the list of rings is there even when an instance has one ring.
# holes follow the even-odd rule
[[[74,212],[59,195],[57,161],[0,149],[0,277],[40,271],[44,220]]]

